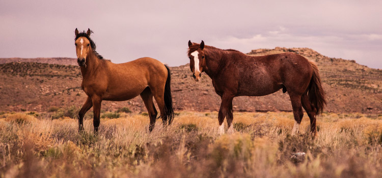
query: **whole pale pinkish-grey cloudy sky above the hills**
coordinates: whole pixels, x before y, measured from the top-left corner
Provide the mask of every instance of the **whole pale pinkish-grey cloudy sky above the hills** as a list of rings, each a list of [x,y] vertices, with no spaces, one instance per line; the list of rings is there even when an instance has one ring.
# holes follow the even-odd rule
[[[114,63],[183,65],[188,40],[204,40],[244,53],[308,47],[382,69],[382,2],[365,2],[0,0],[0,57],[76,57],[74,29],[89,27]]]

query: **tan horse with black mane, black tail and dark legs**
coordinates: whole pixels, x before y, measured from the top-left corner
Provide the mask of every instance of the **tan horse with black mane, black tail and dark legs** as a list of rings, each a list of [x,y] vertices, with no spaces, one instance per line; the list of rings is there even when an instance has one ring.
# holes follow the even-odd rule
[[[85,113],[93,107],[94,132],[98,131],[102,100],[125,101],[141,95],[150,117],[149,130],[155,126],[158,104],[163,125],[171,124],[174,110],[170,90],[170,69],[150,57],[139,58],[128,63],[114,64],[104,60],[95,49],[90,38],[92,31],[78,33],[75,29],[75,46],[78,65],[83,76],[81,87],[88,95],[78,113],[78,131],[84,129]]]

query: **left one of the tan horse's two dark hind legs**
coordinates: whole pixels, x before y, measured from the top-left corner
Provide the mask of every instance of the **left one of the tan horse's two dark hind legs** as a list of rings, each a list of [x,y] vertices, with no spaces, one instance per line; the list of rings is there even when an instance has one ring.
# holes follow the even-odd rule
[[[143,92],[141,93],[141,98],[143,100],[143,103],[145,103],[147,112],[149,113],[149,117],[150,117],[150,126],[149,126],[150,132],[155,127],[156,115],[158,114],[158,112],[155,109],[155,105],[152,100],[152,97],[153,95],[149,87],[146,87],[145,90],[143,90]]]

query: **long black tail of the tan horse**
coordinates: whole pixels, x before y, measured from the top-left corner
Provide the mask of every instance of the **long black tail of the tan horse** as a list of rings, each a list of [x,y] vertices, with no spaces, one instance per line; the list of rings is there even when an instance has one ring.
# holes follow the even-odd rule
[[[168,66],[166,66],[167,69],[167,80],[165,85],[165,106],[166,106],[166,117],[169,121],[169,125],[173,121],[174,117],[174,108],[173,108],[173,99],[171,96],[171,73]]]

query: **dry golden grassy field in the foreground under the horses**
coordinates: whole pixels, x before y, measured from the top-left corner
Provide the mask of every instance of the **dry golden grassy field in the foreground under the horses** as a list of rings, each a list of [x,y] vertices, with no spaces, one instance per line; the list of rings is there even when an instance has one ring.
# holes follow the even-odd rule
[[[173,125],[148,116],[77,120],[1,113],[0,177],[382,177],[382,116],[324,113],[312,139],[304,116],[234,113],[233,134],[217,134],[217,113],[180,112]],[[305,153],[305,154],[304,154]]]

